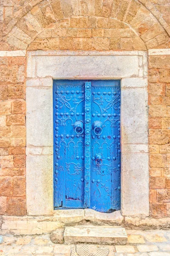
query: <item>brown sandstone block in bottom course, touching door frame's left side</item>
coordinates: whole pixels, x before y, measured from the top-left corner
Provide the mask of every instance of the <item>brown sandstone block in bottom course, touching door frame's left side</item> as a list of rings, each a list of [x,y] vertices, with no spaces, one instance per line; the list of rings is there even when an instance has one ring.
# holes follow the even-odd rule
[[[7,214],[22,216],[26,214],[26,199],[21,197],[8,197]]]

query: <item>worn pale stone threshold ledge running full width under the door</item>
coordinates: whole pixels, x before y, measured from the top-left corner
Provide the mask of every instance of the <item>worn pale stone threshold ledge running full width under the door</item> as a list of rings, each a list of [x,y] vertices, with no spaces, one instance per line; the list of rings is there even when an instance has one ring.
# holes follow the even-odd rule
[[[13,235],[40,235],[57,228],[76,226],[89,222],[93,225],[111,225],[126,229],[170,229],[170,217],[150,218],[122,216],[121,211],[96,212],[92,209],[56,210],[51,216],[1,216],[0,233]]]

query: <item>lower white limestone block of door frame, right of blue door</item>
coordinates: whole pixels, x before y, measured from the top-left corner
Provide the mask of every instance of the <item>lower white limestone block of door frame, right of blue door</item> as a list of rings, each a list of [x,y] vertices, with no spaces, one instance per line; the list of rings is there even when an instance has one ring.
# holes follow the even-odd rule
[[[148,160],[147,153],[122,154],[122,215],[149,215]]]

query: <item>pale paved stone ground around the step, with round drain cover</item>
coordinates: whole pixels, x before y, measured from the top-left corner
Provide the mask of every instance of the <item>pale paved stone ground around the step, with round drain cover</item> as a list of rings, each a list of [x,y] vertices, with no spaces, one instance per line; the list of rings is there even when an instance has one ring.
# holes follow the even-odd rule
[[[170,256],[170,230],[127,230],[127,245],[53,244],[50,236],[3,236],[0,256]]]

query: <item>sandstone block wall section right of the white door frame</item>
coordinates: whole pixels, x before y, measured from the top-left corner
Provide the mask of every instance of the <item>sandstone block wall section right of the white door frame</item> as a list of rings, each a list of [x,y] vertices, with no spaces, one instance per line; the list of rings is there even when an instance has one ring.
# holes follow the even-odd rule
[[[149,143],[150,147],[150,215],[156,218],[170,216],[170,186],[168,172],[170,93],[170,55],[164,50],[149,55]],[[153,54],[153,55],[152,55]],[[165,74],[166,75],[163,75]],[[164,77],[162,79],[162,77]]]

